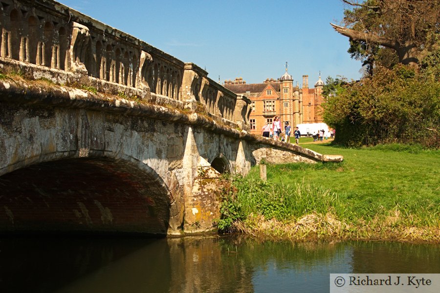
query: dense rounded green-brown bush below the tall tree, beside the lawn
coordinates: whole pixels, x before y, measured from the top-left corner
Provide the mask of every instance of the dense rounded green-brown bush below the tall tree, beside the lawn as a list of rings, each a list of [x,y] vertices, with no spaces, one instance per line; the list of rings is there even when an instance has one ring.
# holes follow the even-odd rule
[[[336,129],[335,142],[440,147],[440,83],[429,78],[431,69],[417,73],[404,65],[377,66],[374,76],[343,85],[338,94],[328,96],[323,116]]]

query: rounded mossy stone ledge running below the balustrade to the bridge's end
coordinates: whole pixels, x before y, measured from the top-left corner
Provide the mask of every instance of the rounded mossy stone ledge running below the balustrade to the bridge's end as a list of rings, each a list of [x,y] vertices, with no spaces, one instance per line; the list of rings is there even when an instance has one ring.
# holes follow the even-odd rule
[[[129,116],[139,116],[156,120],[200,126],[213,132],[240,138],[252,143],[255,149],[271,146],[292,151],[321,162],[342,162],[341,155],[322,155],[301,146],[274,141],[265,137],[238,130],[214,121],[211,117],[196,112],[172,107],[153,105],[144,101],[136,102],[119,96],[93,93],[84,89],[45,83],[26,81],[21,78],[0,80],[0,102],[24,105],[58,106],[66,108],[87,108],[95,111],[113,112]]]

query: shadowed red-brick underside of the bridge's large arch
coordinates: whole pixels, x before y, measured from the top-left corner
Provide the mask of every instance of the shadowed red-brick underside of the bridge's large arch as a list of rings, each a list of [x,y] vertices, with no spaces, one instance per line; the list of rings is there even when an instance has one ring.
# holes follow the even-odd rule
[[[167,188],[110,158],[44,162],[0,177],[0,230],[167,233]]]

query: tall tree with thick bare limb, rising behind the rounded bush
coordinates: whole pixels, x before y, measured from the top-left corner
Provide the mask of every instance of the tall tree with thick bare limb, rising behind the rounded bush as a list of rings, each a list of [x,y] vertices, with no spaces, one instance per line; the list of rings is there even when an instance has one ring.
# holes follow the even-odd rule
[[[344,11],[344,26],[330,24],[350,38],[349,52],[366,65],[377,59],[392,65],[386,47],[396,52],[399,63],[418,68],[429,52],[440,48],[440,0],[342,1],[353,7]]]

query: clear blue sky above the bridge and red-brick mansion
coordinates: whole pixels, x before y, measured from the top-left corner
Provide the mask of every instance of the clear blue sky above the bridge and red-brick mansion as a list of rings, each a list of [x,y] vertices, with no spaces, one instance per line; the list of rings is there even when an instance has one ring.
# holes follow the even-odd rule
[[[285,63],[294,84],[327,76],[361,77],[347,53],[349,40],[330,22],[343,18],[340,0],[59,0],[183,62],[206,68],[218,81],[248,84],[277,79]]]

